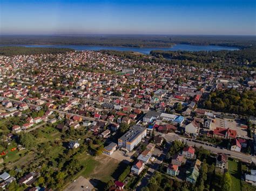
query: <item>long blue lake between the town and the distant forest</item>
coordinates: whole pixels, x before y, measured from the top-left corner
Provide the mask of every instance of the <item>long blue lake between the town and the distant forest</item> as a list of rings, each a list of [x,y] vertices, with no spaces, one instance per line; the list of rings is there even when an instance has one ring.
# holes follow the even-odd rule
[[[87,46],[87,45],[0,45],[0,46],[25,46],[25,47],[48,47],[48,48],[72,48],[77,51],[99,51],[100,49],[109,49],[113,51],[133,51],[142,54],[149,54],[153,50],[161,51],[220,51],[238,50],[237,47],[228,46],[203,46],[203,45],[185,45],[177,44],[173,47],[145,47],[145,48],[134,48],[134,47],[119,47],[119,46]]]

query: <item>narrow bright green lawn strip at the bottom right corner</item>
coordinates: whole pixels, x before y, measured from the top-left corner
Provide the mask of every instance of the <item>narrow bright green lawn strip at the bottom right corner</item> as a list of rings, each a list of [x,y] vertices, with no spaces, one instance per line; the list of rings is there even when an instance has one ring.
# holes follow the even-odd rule
[[[231,175],[231,190],[241,190],[241,166],[234,159],[228,159],[228,172]]]

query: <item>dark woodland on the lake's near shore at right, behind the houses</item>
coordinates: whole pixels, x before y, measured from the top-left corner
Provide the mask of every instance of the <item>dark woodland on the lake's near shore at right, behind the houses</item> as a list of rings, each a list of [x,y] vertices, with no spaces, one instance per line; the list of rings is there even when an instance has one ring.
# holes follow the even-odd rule
[[[157,58],[189,60],[201,63],[250,63],[256,65],[256,46],[239,51],[151,51],[150,55]]]

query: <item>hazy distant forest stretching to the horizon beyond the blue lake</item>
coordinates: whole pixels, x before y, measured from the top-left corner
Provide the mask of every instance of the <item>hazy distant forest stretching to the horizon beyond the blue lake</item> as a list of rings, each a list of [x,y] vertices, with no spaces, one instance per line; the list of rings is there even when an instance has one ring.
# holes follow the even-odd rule
[[[253,36],[182,36],[182,35],[91,35],[91,36],[0,36],[2,45],[95,45],[126,47],[171,47],[174,44],[219,45],[239,48],[256,45]]]

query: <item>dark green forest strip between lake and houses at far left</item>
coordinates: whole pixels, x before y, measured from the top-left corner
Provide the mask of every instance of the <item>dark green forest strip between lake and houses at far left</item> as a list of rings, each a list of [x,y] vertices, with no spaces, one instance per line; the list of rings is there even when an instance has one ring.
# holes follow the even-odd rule
[[[31,48],[22,46],[0,47],[0,55],[31,55],[31,54],[58,54],[74,51],[71,48]]]

